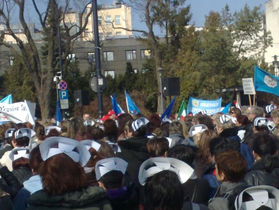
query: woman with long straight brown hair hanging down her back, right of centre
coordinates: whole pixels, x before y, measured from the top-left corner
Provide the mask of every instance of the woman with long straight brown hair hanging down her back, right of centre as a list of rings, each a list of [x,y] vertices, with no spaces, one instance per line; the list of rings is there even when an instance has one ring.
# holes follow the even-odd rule
[[[202,178],[205,168],[211,165],[209,143],[215,137],[218,137],[218,135],[214,130],[205,130],[201,133],[194,164],[198,178]]]

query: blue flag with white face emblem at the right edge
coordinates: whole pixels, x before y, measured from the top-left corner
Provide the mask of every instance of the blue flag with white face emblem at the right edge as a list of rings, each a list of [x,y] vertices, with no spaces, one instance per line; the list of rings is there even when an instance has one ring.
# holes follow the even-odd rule
[[[279,96],[279,77],[255,66],[254,85],[256,91],[273,93]]]

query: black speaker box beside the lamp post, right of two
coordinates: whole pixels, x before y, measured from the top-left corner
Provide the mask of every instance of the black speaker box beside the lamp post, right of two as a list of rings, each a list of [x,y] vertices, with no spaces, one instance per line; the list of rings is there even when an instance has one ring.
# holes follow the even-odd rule
[[[162,77],[162,91],[165,96],[180,95],[179,77]]]

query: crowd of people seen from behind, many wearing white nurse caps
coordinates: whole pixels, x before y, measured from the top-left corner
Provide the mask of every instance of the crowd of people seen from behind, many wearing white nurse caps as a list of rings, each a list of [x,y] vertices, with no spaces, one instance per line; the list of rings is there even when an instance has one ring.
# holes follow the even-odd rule
[[[279,110],[0,125],[3,210],[279,209]]]

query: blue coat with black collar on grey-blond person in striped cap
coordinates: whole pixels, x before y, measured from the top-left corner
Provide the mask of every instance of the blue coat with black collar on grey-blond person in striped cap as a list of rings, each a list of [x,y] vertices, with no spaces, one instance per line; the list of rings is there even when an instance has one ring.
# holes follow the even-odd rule
[[[230,138],[232,140],[235,140],[237,143],[239,143],[239,152],[246,159],[247,168],[249,170],[254,164],[254,156],[253,156],[252,150],[245,143],[240,143],[241,140],[240,140],[239,136],[237,135],[237,133],[238,133],[237,127],[228,128],[228,129],[225,129],[222,131],[222,133],[220,134],[220,137]]]

